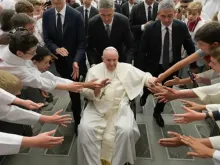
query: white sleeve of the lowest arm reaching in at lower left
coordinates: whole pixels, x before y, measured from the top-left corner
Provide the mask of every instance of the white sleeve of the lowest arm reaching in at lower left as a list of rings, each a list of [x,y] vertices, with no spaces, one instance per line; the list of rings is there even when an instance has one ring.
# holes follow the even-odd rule
[[[23,136],[0,132],[0,155],[17,154],[21,147]]]

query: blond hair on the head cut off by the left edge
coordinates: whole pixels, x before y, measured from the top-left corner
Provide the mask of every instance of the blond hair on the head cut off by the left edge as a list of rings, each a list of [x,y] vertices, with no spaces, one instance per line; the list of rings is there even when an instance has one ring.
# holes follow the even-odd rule
[[[0,88],[17,95],[22,89],[21,80],[7,71],[0,70]]]

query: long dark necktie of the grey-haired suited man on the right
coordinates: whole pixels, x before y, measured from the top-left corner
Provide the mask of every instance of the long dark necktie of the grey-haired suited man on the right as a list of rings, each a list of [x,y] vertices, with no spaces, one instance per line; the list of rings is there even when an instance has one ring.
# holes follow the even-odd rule
[[[169,29],[166,27],[166,33],[164,36],[164,43],[163,43],[163,68],[166,70],[169,68],[170,60],[169,60],[169,48],[170,48],[170,39],[169,39]]]

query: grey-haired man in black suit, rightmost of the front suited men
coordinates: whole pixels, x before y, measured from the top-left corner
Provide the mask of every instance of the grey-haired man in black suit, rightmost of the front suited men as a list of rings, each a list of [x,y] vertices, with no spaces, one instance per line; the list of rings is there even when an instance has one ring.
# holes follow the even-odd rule
[[[170,0],[163,0],[158,7],[158,19],[149,24],[140,43],[139,60],[141,69],[158,77],[173,64],[181,60],[182,46],[187,54],[195,52],[195,47],[185,23],[174,20],[175,7]],[[173,75],[168,79],[172,79]],[[145,91],[142,100],[150,92]],[[144,103],[145,104],[145,103]],[[161,113],[165,104],[157,103],[154,108],[154,118],[160,127],[164,126]]]

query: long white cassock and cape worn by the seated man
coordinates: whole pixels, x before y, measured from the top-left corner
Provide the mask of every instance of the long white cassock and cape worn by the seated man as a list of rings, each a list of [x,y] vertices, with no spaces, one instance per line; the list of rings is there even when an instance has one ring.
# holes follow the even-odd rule
[[[88,71],[87,81],[109,78],[111,83],[101,90],[98,97],[91,89],[82,92],[89,102],[78,127],[78,164],[134,164],[135,143],[140,132],[129,100],[141,93],[150,77],[150,73],[125,63],[118,63],[114,72],[109,72],[104,63]]]

